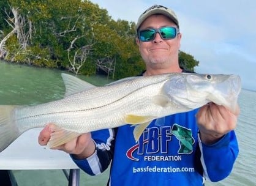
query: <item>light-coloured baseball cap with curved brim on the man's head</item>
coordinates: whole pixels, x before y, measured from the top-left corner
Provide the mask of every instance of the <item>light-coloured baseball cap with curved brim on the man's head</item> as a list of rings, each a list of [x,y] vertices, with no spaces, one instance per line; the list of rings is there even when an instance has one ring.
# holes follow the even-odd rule
[[[178,21],[178,18],[176,16],[175,12],[173,12],[173,10],[171,10],[171,9],[168,9],[167,7],[155,4],[154,6],[149,7],[149,9],[147,9],[145,12],[143,12],[140,15],[140,17],[138,18],[137,24],[136,24],[136,31],[138,31],[138,28],[140,28],[141,23],[143,23],[143,21],[145,21],[146,18],[148,18],[149,16],[154,15],[154,14],[163,14],[163,15],[167,16],[179,28],[179,21]]]

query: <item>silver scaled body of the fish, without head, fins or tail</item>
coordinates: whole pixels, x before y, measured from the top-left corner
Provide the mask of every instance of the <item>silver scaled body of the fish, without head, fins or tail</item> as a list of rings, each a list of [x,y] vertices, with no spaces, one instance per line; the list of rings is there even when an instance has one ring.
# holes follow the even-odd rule
[[[76,132],[90,132],[124,124],[127,114],[152,116],[160,106],[152,103],[169,75],[136,78],[70,95],[55,102],[15,110],[20,131],[55,123]],[[154,116],[154,115],[153,115]]]

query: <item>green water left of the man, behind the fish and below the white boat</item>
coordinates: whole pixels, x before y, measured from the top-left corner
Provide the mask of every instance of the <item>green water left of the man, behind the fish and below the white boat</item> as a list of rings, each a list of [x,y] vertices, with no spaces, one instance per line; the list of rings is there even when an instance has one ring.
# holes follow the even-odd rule
[[[61,99],[65,93],[61,73],[67,72],[0,61],[0,105],[37,105]],[[101,76],[78,77],[94,85],[111,82]],[[13,174],[19,186],[68,185],[62,170],[15,170]],[[94,177],[80,171],[80,185],[103,186],[107,178],[108,171]]]

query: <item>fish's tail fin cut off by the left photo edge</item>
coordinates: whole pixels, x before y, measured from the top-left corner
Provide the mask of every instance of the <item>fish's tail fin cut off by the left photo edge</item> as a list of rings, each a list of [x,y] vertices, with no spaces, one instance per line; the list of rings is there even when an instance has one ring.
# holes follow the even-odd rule
[[[14,105],[0,105],[0,152],[20,136],[12,119]]]

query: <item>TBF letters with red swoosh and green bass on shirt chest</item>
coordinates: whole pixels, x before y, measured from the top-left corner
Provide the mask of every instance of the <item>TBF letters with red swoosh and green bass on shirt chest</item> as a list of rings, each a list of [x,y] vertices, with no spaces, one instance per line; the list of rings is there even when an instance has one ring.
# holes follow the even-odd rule
[[[178,124],[173,124],[172,127],[146,128],[143,135],[140,136],[138,143],[135,144],[135,146],[130,147],[126,152],[126,156],[130,160],[139,161],[138,158],[134,157],[135,152],[137,152],[137,155],[152,155],[158,152],[167,154],[168,143],[173,136],[179,141],[178,154],[191,154],[193,152],[193,144],[195,143],[195,140],[192,137],[191,130]]]

